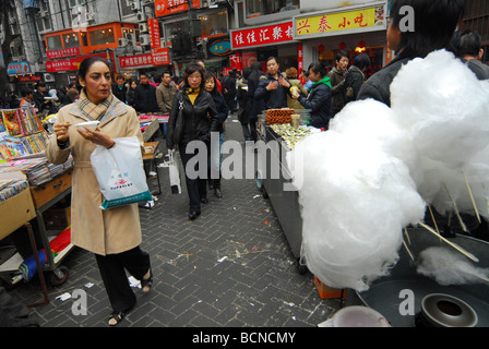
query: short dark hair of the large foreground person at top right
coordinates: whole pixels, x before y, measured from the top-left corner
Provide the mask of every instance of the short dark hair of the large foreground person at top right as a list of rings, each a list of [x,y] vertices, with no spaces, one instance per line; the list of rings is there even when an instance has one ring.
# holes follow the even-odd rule
[[[392,25],[399,27],[404,17],[401,8],[414,10],[414,32],[403,31],[395,48],[401,58],[426,57],[429,52],[449,46],[453,32],[465,12],[464,0],[392,0]]]

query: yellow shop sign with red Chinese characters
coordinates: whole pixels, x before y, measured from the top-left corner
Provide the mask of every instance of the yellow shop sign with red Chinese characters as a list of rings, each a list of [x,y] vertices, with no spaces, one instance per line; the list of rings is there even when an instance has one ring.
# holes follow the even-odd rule
[[[343,31],[361,31],[366,28],[371,31],[372,27],[384,29],[385,21],[383,16],[377,15],[378,12],[383,14],[383,7],[298,17],[295,19],[295,36],[321,36],[330,33],[333,33],[331,35],[341,35],[344,34]]]

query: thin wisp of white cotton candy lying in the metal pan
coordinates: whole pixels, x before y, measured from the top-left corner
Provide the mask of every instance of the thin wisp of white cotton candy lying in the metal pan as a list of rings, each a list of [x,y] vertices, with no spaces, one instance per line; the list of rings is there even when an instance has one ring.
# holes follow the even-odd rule
[[[441,246],[424,250],[416,272],[443,286],[489,281],[489,268],[477,267],[458,252]]]

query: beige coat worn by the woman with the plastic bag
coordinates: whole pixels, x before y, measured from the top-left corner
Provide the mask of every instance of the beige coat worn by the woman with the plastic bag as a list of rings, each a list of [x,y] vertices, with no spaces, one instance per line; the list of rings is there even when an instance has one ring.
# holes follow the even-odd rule
[[[103,132],[112,139],[138,136],[143,145],[143,136],[135,110],[114,98],[99,124]],[[96,145],[83,139],[74,124],[87,121],[82,117],[77,101],[60,109],[57,122],[69,121],[70,143],[60,149],[56,135],[46,147],[46,157],[52,164],[64,163],[70,153],[73,157],[71,196],[71,242],[96,254],[106,255],[128,251],[142,242],[138,204],[99,208],[103,195],[92,169],[90,156]],[[117,146],[117,145],[116,145]]]

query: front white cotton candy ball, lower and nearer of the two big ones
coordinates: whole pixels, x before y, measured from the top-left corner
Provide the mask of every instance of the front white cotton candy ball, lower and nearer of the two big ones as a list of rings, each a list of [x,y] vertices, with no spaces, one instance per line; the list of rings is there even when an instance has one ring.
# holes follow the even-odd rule
[[[422,218],[425,203],[407,167],[374,143],[331,130],[300,146],[302,257],[322,282],[366,290],[397,262],[402,229]]]

